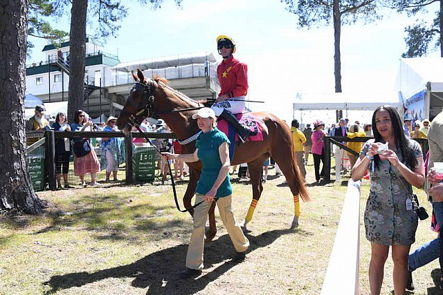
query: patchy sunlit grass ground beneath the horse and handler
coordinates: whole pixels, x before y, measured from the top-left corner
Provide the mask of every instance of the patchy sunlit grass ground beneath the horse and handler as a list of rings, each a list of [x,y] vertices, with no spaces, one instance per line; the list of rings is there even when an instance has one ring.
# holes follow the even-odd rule
[[[308,166],[308,183],[313,180]],[[0,220],[0,294],[320,294],[346,187],[311,186],[300,227],[289,230],[293,201],[284,178],[270,170],[247,233],[251,252],[230,262],[234,249],[217,212],[217,236],[205,250],[204,274],[181,280],[192,220],[175,209],[168,185],[72,189],[39,193],[51,207],[41,216]],[[233,184],[233,209],[244,220],[251,187]],[[183,196],[186,183],[177,186]],[[361,214],[368,196],[361,189]],[[429,209],[423,193],[421,204]],[[428,210],[429,211],[429,210]],[[360,294],[369,294],[370,243],[361,217]],[[435,236],[422,221],[413,247]],[[418,269],[415,294],[437,294],[438,263]],[[382,294],[392,290],[386,264]],[[337,294],[340,294],[339,290]]]

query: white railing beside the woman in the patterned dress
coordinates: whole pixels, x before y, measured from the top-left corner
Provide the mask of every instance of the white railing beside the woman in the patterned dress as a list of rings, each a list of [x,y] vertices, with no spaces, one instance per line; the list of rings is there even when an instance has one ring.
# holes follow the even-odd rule
[[[359,294],[360,181],[349,180],[322,295]]]

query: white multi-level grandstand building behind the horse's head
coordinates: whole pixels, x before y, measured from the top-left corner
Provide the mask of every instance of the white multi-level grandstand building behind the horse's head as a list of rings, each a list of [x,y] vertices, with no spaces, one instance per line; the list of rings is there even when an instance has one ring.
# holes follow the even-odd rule
[[[219,93],[217,60],[213,53],[152,57],[121,63],[98,42],[87,38],[84,71],[84,111],[91,117],[118,116],[134,84],[131,70],[140,68],[146,77],[159,75],[170,86],[192,99],[215,99]],[[45,60],[26,66],[26,93],[45,104],[69,98],[69,41],[56,48],[44,46]]]

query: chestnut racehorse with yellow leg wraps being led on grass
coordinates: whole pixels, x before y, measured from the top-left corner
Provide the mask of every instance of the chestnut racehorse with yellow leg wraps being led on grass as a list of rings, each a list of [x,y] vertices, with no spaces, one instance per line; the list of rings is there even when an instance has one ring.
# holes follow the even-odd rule
[[[131,121],[140,124],[145,117],[161,117],[181,142],[181,153],[193,153],[195,151],[195,135],[200,130],[197,126],[197,120],[192,120],[191,117],[192,114],[197,112],[198,108],[203,107],[203,104],[175,91],[168,86],[168,80],[166,79],[161,77],[146,79],[139,69],[137,69],[137,75],[134,73],[132,75],[135,84],[129,93],[125,107],[118,116],[118,128],[128,132],[131,130],[129,128],[129,122]],[[293,155],[289,126],[271,113],[260,112],[253,113],[253,115],[257,117],[259,124],[262,126],[264,140],[262,142],[244,142],[237,146],[231,163],[233,165],[248,163],[252,183],[253,200],[246,214],[244,229],[246,229],[248,222],[252,220],[254,209],[262,194],[262,166],[269,156],[272,156],[280,166],[291,189],[295,208],[291,228],[298,227],[298,217],[300,216],[298,196],[305,202],[309,201],[310,198]],[[201,162],[187,164],[190,167],[190,180],[185,196],[183,196],[183,204],[192,215],[191,199],[195,194],[195,187],[200,177]],[[217,231],[214,209],[215,202],[208,213],[210,227],[206,231],[207,241],[211,241]]]

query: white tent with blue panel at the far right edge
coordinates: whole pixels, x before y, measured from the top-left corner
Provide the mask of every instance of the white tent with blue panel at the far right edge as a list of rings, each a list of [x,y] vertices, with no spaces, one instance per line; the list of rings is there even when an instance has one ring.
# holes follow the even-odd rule
[[[432,120],[443,108],[443,58],[400,59],[397,91],[406,115],[414,120]]]

